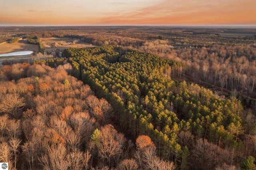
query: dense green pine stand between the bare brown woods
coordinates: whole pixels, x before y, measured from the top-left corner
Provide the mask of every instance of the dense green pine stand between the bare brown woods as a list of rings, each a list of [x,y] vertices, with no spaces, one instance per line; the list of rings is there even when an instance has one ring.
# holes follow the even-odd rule
[[[119,48],[70,48],[64,53],[74,74],[119,111],[116,117],[132,138],[150,136],[157,154],[178,169],[239,165],[244,156],[255,154],[250,148],[255,117],[244,112],[236,97],[224,99],[197,84],[172,80],[182,65],[178,61],[132,49],[120,55]]]

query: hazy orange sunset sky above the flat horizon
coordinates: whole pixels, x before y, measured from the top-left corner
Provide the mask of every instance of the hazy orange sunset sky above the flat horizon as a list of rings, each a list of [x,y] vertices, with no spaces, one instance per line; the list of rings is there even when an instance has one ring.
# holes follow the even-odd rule
[[[0,26],[256,26],[256,0],[0,0]]]

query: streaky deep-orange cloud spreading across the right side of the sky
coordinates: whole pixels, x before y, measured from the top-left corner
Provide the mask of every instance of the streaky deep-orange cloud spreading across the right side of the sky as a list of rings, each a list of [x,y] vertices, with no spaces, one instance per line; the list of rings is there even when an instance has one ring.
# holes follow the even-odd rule
[[[186,4],[187,0],[182,3]],[[169,1],[158,6],[142,8],[132,14],[112,15],[102,19],[104,24],[136,24],[136,25],[228,25],[228,24],[253,24],[256,25],[256,1],[223,0],[223,3],[198,4],[188,2],[188,5],[178,6]],[[198,2],[203,2],[199,0]],[[174,5],[174,6],[173,6]],[[239,6],[239,8],[237,8]],[[167,12],[167,10],[169,10]]]

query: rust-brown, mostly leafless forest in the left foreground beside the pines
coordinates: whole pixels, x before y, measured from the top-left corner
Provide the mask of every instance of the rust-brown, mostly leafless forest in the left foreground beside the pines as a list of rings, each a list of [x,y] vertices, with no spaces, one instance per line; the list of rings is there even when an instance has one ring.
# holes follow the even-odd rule
[[[1,162],[12,170],[174,169],[150,137],[118,132],[112,106],[70,71],[69,63],[1,67]]]

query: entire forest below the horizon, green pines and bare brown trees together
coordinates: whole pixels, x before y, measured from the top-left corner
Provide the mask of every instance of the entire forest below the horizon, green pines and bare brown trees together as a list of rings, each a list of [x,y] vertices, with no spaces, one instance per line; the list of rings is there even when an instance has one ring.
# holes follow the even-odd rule
[[[256,29],[0,32],[98,45],[0,67],[0,159],[12,169],[255,168]]]

